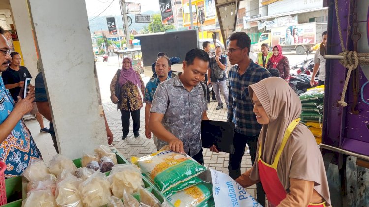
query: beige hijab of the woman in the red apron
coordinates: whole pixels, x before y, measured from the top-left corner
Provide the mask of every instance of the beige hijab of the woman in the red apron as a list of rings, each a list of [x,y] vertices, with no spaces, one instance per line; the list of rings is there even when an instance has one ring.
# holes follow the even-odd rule
[[[269,123],[263,125],[257,147],[262,144],[261,159],[272,164],[288,125],[301,114],[301,102],[292,88],[281,78],[270,77],[249,86],[250,98],[257,96]],[[256,151],[256,158],[259,152]],[[251,168],[250,179],[260,180],[258,162]],[[299,123],[292,131],[279,158],[277,175],[284,189],[290,178],[314,181],[314,189],[330,204],[323,157],[310,130]],[[287,191],[288,192],[288,191]]]

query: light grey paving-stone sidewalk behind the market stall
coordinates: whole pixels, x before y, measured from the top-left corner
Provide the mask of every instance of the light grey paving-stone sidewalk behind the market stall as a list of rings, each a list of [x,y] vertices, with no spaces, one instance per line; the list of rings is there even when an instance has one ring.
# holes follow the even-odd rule
[[[224,103],[224,102],[223,102]],[[107,121],[109,123],[110,130],[114,135],[113,146],[117,148],[120,153],[128,160],[132,156],[141,157],[150,155],[156,152],[153,139],[147,139],[145,137],[145,103],[140,112],[140,136],[134,138],[132,132],[132,119],[130,119],[129,134],[125,140],[122,140],[122,124],[121,124],[121,112],[117,110],[117,106],[113,103],[103,103],[104,112],[106,114]],[[207,115],[210,120],[225,121],[227,119],[227,110],[223,108],[221,110],[215,110],[217,102],[212,101],[208,104]],[[221,171],[228,174],[228,153],[213,153],[207,148],[203,148],[204,164],[207,167]],[[248,153],[248,148],[245,151],[245,155],[242,158],[241,172],[245,172],[251,168],[251,157]],[[256,185],[253,185],[247,189],[247,191],[253,196],[256,196]]]

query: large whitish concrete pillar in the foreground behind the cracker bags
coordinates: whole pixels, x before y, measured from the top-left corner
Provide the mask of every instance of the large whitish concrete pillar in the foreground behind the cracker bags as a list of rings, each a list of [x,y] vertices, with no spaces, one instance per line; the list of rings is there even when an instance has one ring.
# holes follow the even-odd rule
[[[83,0],[28,0],[61,154],[107,145]],[[50,146],[52,147],[52,146]]]

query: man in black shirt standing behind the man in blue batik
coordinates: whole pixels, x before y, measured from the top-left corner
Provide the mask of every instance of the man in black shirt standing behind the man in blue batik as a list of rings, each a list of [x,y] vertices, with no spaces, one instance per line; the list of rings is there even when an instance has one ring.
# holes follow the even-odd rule
[[[11,62],[10,66],[6,69],[6,71],[2,72],[2,79],[4,80],[5,88],[9,89],[11,96],[14,101],[18,101],[18,95],[21,91],[21,88],[24,86],[24,81],[26,78],[32,78],[30,72],[26,67],[21,66],[22,58],[18,52],[10,53]],[[44,121],[42,115],[38,112],[36,104],[33,105],[33,110],[31,114],[36,115],[36,119],[40,124],[40,132],[47,133],[49,129],[44,127]]]

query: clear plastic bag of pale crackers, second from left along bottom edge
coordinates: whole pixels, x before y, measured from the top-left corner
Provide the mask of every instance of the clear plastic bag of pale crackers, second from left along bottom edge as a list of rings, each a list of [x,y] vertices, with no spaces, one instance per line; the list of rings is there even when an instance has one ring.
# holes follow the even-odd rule
[[[66,172],[65,170],[63,172]],[[68,173],[65,178],[57,183],[55,202],[58,207],[83,207],[81,195],[78,190],[82,179]]]

